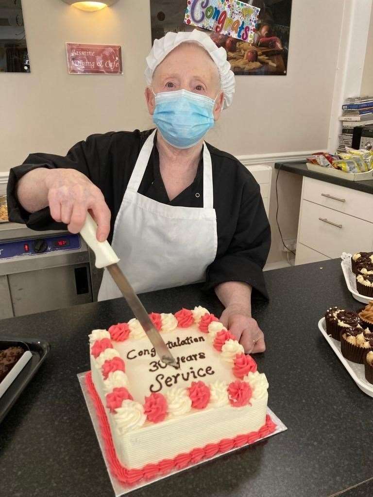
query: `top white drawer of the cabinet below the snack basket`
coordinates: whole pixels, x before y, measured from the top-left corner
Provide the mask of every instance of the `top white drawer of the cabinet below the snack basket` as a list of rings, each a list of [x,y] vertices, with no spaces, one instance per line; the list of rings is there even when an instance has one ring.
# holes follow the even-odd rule
[[[345,186],[304,178],[303,198],[373,223],[373,195]],[[334,197],[334,198],[332,198]]]

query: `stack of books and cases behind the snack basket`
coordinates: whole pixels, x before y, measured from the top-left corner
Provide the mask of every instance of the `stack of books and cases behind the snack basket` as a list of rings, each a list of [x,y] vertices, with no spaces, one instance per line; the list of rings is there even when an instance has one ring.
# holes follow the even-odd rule
[[[337,154],[346,152],[346,146],[359,149],[362,127],[373,124],[373,96],[346,98],[339,120],[343,121],[343,127]]]

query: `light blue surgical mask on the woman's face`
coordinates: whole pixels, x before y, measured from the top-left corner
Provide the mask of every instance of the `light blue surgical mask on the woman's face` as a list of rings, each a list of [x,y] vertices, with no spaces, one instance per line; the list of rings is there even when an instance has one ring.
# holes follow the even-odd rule
[[[154,95],[153,121],[166,142],[173,147],[192,147],[214,125],[212,112],[216,98],[213,100],[184,89]]]

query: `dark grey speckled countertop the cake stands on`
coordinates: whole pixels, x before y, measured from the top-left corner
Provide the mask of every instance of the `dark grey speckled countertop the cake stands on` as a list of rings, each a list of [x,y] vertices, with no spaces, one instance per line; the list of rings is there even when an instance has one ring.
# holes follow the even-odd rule
[[[373,399],[355,385],[317,328],[329,306],[356,310],[339,260],[265,273],[270,303],[254,300],[266,334],[256,356],[269,406],[287,431],[137,491],[138,497],[373,495]],[[150,311],[221,305],[199,285],[144,294]],[[89,369],[87,334],[128,321],[121,299],[0,321],[0,336],[49,340],[52,349],[0,425],[7,496],[111,497],[112,488],[77,374]],[[356,488],[351,488],[358,485]]]

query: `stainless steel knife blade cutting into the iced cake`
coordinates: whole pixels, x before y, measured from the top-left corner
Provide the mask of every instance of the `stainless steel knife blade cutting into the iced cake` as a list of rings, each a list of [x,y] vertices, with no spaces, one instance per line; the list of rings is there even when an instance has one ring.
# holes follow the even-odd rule
[[[131,308],[135,317],[140,322],[161,360],[165,364],[178,367],[174,356],[170,352],[159,331],[154,328],[154,325],[149,318],[148,313],[146,312],[140,299],[134,292],[133,288],[131,287],[127,278],[124,276],[118,264],[110,264],[106,266],[106,269],[109,271],[119,290],[122,292],[123,297],[127,301],[127,304]]]

